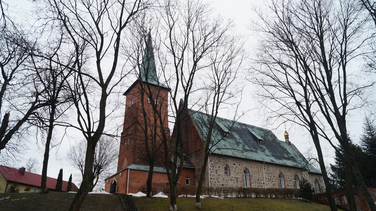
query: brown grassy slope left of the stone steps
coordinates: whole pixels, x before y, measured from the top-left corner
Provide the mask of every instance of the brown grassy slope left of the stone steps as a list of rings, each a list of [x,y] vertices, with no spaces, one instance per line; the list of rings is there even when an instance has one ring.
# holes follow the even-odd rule
[[[0,210],[68,210],[75,193],[0,193]],[[8,198],[9,197],[9,198]],[[123,210],[118,196],[88,194],[81,210]]]

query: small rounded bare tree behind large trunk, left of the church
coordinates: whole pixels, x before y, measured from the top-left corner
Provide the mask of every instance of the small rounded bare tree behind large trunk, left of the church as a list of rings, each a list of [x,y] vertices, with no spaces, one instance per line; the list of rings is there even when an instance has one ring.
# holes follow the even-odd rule
[[[85,140],[77,142],[71,146],[67,154],[67,161],[83,174],[85,172]],[[108,176],[116,166],[118,156],[118,145],[115,139],[102,136],[97,144],[94,154],[93,179],[91,181],[90,191],[99,190],[98,181],[102,181]]]

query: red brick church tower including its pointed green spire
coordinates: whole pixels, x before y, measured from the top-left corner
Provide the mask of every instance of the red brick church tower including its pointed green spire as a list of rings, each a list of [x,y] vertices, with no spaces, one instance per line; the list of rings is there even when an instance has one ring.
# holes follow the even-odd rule
[[[123,94],[126,96],[126,108],[119,148],[118,171],[131,164],[149,166],[145,140],[148,140],[149,148],[153,143],[157,146],[161,143],[159,138],[161,137],[161,121],[153,110],[153,106],[162,116],[162,127],[168,128],[169,88],[159,83],[150,31],[138,75],[138,79]],[[155,166],[164,166],[162,154],[162,149],[157,152]]]

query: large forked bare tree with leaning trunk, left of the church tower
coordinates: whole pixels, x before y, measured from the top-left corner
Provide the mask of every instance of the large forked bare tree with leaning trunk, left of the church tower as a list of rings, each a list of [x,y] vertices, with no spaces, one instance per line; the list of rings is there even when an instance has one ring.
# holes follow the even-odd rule
[[[127,74],[121,68],[117,71],[121,65],[118,59],[122,32],[150,3],[46,0],[45,5],[52,14],[50,20],[64,29],[65,50],[74,52],[73,66],[60,65],[74,72],[68,85],[77,124],[70,126],[80,130],[87,141],[82,183],[70,206],[70,210],[78,210],[92,186],[95,149],[109,115],[109,95]]]

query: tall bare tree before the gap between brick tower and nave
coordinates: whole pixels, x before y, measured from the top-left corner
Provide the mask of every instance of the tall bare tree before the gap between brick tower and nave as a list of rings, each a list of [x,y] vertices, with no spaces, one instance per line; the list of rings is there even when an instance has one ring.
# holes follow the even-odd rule
[[[170,210],[176,211],[176,185],[183,169],[184,145],[182,130],[188,120],[188,103],[190,95],[196,90],[195,75],[210,66],[206,63],[209,54],[228,43],[224,36],[229,33],[230,26],[220,18],[212,18],[209,5],[197,1],[166,1],[161,5],[157,15],[160,17],[158,35],[161,48],[158,59],[168,89],[172,115],[175,119],[173,133],[160,127],[161,142],[164,148],[165,166],[170,184]],[[173,61],[172,63],[170,61]],[[164,125],[166,116],[159,111],[155,94],[147,85],[147,96],[150,98],[153,112],[159,125]],[[195,84],[197,85],[197,84]],[[150,95],[152,94],[152,95]],[[181,100],[180,100],[181,98]]]

